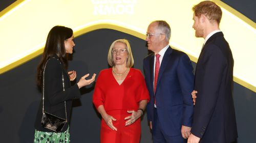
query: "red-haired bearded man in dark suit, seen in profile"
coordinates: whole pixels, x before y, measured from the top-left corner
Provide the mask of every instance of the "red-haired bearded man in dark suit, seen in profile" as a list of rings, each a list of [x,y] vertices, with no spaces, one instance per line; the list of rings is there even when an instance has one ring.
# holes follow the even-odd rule
[[[238,137],[232,99],[233,57],[219,28],[222,11],[210,1],[199,3],[193,11],[196,37],[205,42],[196,67],[197,101],[187,142],[233,142]]]

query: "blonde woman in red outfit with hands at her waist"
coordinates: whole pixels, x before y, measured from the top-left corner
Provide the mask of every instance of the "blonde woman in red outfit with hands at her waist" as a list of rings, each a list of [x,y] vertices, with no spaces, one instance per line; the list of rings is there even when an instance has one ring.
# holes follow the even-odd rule
[[[134,60],[127,40],[112,43],[108,63],[112,68],[100,71],[93,94],[102,117],[100,142],[140,142],[140,117],[150,97],[142,73],[131,68]]]

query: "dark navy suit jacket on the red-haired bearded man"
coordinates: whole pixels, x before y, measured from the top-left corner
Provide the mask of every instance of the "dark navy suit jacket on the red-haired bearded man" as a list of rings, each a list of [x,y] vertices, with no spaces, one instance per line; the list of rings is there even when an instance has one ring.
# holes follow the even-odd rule
[[[233,57],[223,33],[205,43],[196,67],[198,91],[191,133],[200,142],[233,142],[238,137],[233,105]]]

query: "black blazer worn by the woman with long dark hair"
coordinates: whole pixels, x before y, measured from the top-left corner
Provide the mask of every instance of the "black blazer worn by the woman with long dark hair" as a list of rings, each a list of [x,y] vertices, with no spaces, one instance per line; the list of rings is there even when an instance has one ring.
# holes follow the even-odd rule
[[[65,84],[65,91],[63,91],[62,73]],[[72,99],[80,98],[78,85],[71,86],[69,75],[66,69],[58,60],[57,56],[50,58],[45,69],[45,111],[52,113],[58,117],[66,119],[65,102],[67,107],[68,124],[66,124],[61,132],[68,129],[70,123]],[[38,131],[51,132],[41,126],[42,118],[42,101],[40,102],[39,109],[35,120],[35,129]]]

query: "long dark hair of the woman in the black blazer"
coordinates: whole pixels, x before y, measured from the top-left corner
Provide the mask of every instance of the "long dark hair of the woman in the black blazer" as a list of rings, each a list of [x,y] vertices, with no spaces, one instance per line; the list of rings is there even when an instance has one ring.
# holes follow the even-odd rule
[[[49,58],[57,55],[63,66],[67,69],[68,60],[64,41],[71,38],[72,35],[73,30],[65,26],[54,26],[50,30],[41,61],[37,67],[37,85],[39,88],[41,88],[42,74]]]

